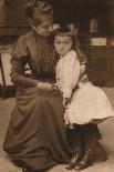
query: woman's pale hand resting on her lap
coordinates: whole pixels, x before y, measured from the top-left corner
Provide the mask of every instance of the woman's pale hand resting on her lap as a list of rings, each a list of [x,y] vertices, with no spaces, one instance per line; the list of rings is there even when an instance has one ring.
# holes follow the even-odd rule
[[[52,91],[52,84],[49,82],[39,82],[38,83],[38,89],[44,90],[44,91]]]

